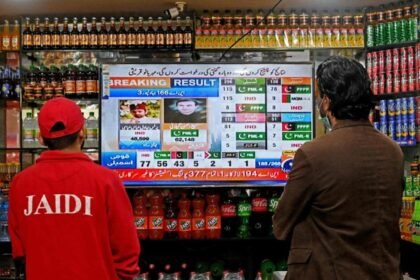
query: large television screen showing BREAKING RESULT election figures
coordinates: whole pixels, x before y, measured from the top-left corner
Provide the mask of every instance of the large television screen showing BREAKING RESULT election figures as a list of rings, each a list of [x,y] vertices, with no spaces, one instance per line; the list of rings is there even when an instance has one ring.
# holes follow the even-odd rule
[[[101,163],[125,185],[284,185],[312,64],[104,65]]]

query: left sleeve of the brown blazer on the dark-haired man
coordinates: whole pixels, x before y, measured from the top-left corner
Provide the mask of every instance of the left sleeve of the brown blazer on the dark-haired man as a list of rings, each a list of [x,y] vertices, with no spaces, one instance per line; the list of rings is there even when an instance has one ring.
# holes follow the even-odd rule
[[[296,224],[304,218],[313,194],[312,178],[311,165],[305,153],[298,150],[287,185],[273,215],[273,233],[277,239],[289,239]]]

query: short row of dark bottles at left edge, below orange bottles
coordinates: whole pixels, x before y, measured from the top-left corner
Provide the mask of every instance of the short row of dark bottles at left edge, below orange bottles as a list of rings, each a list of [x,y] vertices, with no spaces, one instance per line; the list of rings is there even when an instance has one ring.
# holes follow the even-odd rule
[[[19,69],[0,66],[0,98],[18,100],[21,93]]]

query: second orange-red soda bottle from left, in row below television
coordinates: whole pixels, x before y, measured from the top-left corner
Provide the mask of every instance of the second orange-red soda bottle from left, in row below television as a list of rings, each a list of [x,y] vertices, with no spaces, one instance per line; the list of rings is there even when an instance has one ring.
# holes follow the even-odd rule
[[[150,239],[163,239],[165,234],[163,221],[163,199],[160,193],[155,193],[150,198],[151,207],[149,211],[149,238]]]

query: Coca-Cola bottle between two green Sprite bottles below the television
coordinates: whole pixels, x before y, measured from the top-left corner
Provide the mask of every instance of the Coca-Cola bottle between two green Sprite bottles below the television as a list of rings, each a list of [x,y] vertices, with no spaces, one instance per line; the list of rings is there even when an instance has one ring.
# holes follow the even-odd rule
[[[251,217],[249,219],[251,236],[268,236],[271,229],[271,216],[268,212],[266,193],[260,190],[255,191],[252,195],[251,205]]]

